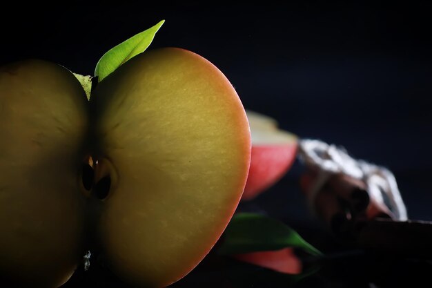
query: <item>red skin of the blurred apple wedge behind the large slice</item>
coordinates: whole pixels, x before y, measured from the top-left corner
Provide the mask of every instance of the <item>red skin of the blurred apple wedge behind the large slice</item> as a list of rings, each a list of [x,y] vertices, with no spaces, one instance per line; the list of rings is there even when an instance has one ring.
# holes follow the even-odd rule
[[[279,181],[297,155],[297,141],[278,145],[252,145],[251,166],[242,200],[252,200]]]

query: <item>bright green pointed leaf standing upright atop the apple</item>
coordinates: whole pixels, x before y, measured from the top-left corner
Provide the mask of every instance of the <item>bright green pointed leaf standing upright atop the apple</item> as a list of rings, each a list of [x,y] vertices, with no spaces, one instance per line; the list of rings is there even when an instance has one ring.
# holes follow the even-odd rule
[[[98,77],[98,81],[102,81],[105,77],[114,72],[121,64],[132,57],[144,52],[150,46],[156,32],[164,24],[165,20],[160,21],[152,28],[149,28],[121,44],[111,48],[99,59],[95,69],[95,76]]]

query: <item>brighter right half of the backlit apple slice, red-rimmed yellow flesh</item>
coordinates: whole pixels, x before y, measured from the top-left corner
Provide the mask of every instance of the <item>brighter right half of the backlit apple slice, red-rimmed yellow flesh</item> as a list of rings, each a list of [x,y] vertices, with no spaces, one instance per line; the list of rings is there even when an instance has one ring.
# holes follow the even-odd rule
[[[117,179],[99,219],[103,255],[137,286],[184,277],[213,247],[242,196],[251,135],[228,79],[193,52],[132,58],[90,99],[95,157]]]

